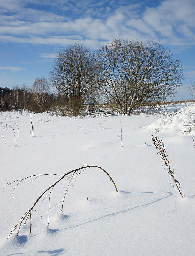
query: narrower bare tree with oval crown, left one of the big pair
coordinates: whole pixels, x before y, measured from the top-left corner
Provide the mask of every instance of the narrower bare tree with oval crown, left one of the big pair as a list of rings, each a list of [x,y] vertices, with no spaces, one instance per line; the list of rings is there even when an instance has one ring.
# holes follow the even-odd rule
[[[82,104],[93,91],[93,70],[93,55],[82,44],[67,47],[54,59],[49,79],[60,95],[68,97],[71,115],[79,115]]]

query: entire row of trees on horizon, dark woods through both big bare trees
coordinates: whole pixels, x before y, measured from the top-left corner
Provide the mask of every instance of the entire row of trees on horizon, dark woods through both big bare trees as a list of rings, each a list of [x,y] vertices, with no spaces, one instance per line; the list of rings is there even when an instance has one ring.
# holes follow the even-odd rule
[[[56,115],[78,116],[94,114],[101,103],[106,111],[131,115],[165,101],[182,86],[182,65],[173,57],[154,40],[113,39],[94,53],[73,44],[57,53],[49,80],[36,78],[31,89],[0,88],[0,110],[52,109]]]

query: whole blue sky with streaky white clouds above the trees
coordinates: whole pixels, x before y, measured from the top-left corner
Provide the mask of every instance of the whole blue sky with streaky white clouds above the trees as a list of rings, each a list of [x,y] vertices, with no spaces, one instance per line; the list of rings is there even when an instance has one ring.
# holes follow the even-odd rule
[[[172,98],[190,99],[194,25],[194,0],[0,0],[0,86],[32,86],[35,78],[47,78],[56,53],[72,43],[96,50],[112,38],[153,38],[183,66],[183,87]]]

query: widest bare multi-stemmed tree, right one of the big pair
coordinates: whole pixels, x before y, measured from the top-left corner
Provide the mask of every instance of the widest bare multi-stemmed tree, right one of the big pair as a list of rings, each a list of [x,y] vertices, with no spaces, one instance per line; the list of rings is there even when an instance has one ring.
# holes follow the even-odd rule
[[[154,40],[114,39],[99,47],[95,60],[96,84],[121,114],[165,100],[183,81],[180,62]]]

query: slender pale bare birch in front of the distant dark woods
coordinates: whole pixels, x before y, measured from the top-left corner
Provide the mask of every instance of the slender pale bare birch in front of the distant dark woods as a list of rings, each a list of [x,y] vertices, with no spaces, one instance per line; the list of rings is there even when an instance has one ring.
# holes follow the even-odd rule
[[[34,104],[38,108],[38,111],[42,113],[49,98],[49,81],[44,77],[36,78],[32,90]]]

